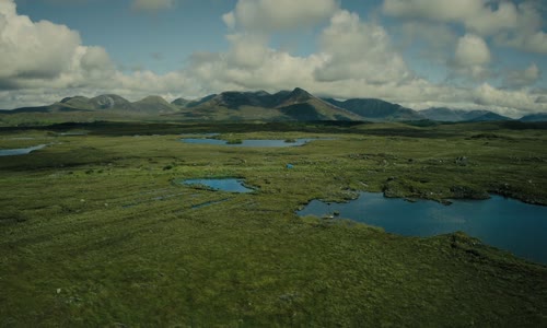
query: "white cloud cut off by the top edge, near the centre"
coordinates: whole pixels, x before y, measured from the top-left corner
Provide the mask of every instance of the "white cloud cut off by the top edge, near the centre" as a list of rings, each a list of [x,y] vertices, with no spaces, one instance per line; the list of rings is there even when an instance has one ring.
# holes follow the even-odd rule
[[[223,21],[231,28],[287,31],[328,20],[337,9],[335,0],[238,0]]]

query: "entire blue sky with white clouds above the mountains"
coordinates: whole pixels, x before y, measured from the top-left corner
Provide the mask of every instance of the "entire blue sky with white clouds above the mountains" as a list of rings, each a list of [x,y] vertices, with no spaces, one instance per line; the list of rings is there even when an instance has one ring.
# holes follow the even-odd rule
[[[0,0],[0,108],[296,86],[547,113],[544,0]]]

